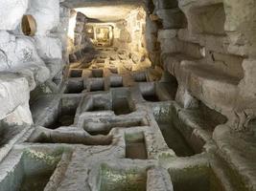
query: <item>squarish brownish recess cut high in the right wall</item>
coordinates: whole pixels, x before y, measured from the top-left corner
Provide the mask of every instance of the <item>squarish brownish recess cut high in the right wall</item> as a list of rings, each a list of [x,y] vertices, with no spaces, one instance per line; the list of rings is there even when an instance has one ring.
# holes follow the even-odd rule
[[[192,32],[225,35],[225,11],[222,3],[192,8],[190,21]]]

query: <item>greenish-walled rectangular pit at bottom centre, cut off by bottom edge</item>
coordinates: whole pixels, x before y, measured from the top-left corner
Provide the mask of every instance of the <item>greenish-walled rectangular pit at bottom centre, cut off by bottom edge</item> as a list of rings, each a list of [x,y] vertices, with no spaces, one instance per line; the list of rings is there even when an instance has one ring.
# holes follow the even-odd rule
[[[99,173],[100,191],[146,191],[147,172],[133,169],[115,169],[102,164]]]

